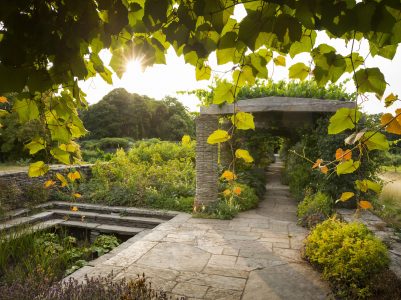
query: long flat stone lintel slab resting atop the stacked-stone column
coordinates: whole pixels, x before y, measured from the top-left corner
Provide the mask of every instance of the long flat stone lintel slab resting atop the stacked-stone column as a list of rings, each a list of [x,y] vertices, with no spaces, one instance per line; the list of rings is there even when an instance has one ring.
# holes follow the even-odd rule
[[[236,111],[243,112],[335,112],[339,108],[354,108],[355,102],[329,99],[296,98],[296,97],[264,97],[240,100],[235,104]],[[224,115],[234,112],[234,104],[222,106],[212,104],[202,106],[202,115]]]

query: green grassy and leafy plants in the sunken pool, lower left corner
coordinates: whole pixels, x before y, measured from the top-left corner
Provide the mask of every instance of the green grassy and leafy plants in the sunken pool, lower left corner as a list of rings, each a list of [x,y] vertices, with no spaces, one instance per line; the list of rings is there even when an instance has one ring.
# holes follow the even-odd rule
[[[7,297],[9,293],[15,295],[12,287],[25,286],[25,282],[32,299],[62,276],[119,245],[114,236],[100,235],[88,245],[85,241],[78,243],[65,232],[35,232],[29,227],[16,229],[9,235],[2,233],[0,243],[0,291],[5,299],[11,299]]]

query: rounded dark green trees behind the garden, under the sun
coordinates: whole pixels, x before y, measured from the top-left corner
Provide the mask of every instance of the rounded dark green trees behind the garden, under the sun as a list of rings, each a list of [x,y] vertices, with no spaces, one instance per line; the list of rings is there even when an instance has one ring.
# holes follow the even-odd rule
[[[90,132],[89,139],[120,137],[179,141],[184,134],[193,136],[195,131],[193,118],[177,99],[166,97],[157,101],[130,94],[122,88],[114,89],[89,106],[82,112],[82,119]]]

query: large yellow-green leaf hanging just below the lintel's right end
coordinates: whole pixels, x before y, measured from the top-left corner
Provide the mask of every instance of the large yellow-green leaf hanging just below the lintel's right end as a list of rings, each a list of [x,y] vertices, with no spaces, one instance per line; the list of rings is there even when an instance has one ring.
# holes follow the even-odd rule
[[[354,128],[355,123],[358,123],[361,116],[362,113],[355,109],[346,107],[340,108],[334,116],[330,118],[328,133],[337,134],[346,129]]]

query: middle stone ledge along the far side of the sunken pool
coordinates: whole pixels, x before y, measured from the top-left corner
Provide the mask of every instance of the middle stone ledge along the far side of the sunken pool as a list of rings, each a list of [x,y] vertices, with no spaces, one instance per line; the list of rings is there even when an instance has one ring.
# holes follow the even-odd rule
[[[95,222],[100,224],[112,224],[121,226],[133,226],[143,228],[153,228],[160,223],[164,223],[166,220],[159,218],[146,218],[146,217],[130,217],[120,216],[115,214],[100,214],[89,211],[71,211],[52,209],[51,210],[56,218],[68,217],[71,221],[77,221],[84,219],[87,222]]]

